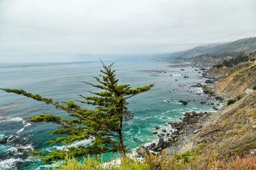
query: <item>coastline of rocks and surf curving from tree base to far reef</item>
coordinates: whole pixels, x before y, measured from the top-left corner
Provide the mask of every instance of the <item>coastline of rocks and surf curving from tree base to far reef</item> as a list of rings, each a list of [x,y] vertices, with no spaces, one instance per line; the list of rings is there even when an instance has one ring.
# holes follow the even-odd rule
[[[170,157],[174,155],[175,153],[182,153],[185,152],[186,150],[195,150],[196,146],[198,145],[198,142],[194,142],[193,139],[198,135],[198,132],[201,131],[201,128],[204,126],[204,123],[209,120],[211,115],[213,114],[218,114],[218,112],[222,111],[225,109],[225,105],[223,104],[223,101],[227,99],[227,96],[222,96],[221,94],[215,94],[214,93],[214,85],[217,81],[216,78],[212,78],[209,76],[206,76],[206,71],[209,69],[210,66],[208,66],[207,69],[204,67],[207,66],[197,66],[196,64],[179,64],[177,65],[178,67],[180,66],[195,66],[195,67],[200,67],[200,70],[203,71],[202,76],[204,78],[207,78],[209,80],[205,80],[207,83],[202,85],[201,83],[197,83],[196,85],[191,85],[191,87],[200,87],[202,89],[202,93],[204,95],[207,95],[209,97],[214,97],[216,100],[215,102],[218,101],[218,105],[222,105],[219,108],[216,108],[215,106],[213,107],[215,111],[190,111],[184,113],[184,117],[180,117],[179,122],[162,122],[166,128],[160,128],[161,125],[156,126],[156,130],[161,130],[163,133],[158,134],[159,139],[155,139],[154,141],[150,143],[145,143],[143,148],[143,152],[140,153],[137,150],[137,157],[143,157],[143,155],[147,152],[148,150],[150,153],[153,153],[153,155],[156,154],[161,154],[163,150],[166,150],[167,155]],[[175,66],[173,66],[175,67]],[[205,103],[202,103],[205,104]],[[170,128],[171,127],[171,131]],[[152,132],[153,134],[157,134],[156,131]],[[161,137],[164,136],[164,143],[167,144],[167,146],[164,146],[164,148],[157,148],[157,146],[163,146],[163,141],[161,141]],[[167,140],[166,140],[167,139]],[[141,147],[138,146],[137,148]],[[156,149],[157,148],[157,149]],[[135,151],[133,152],[133,154]],[[135,153],[136,155],[136,153]]]

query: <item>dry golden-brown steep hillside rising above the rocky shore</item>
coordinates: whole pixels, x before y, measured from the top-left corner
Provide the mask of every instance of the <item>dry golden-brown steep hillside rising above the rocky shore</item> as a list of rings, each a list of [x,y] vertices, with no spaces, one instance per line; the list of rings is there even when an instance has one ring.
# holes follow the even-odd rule
[[[224,96],[234,103],[214,113],[196,115],[198,120],[177,125],[178,136],[168,152],[184,152],[200,148],[202,154],[234,157],[256,153],[256,63],[243,62],[230,68],[212,67],[206,76],[218,78],[207,86],[213,95]],[[191,116],[185,117],[185,120]]]

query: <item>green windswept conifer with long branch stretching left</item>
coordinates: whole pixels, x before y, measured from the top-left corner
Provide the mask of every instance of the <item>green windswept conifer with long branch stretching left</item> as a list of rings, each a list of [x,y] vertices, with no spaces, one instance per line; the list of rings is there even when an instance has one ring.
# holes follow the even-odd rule
[[[102,74],[99,77],[93,77],[99,82],[99,85],[83,82],[92,85],[102,92],[91,92],[93,97],[84,97],[79,95],[81,100],[74,101],[53,101],[49,98],[43,98],[39,94],[31,94],[24,90],[17,89],[1,89],[8,93],[21,94],[37,101],[43,101],[46,104],[53,104],[56,109],[63,110],[72,117],[72,119],[61,118],[58,115],[41,114],[31,117],[31,122],[52,122],[60,125],[60,129],[52,131],[51,134],[62,135],[56,140],[49,142],[65,143],[67,150],[54,150],[50,153],[33,152],[33,155],[40,154],[40,159],[44,162],[52,160],[65,159],[69,157],[83,157],[86,155],[98,155],[106,152],[121,152],[123,157],[128,152],[127,145],[124,145],[124,137],[122,127],[124,120],[133,116],[127,110],[126,99],[136,96],[141,92],[150,90],[154,84],[145,87],[131,89],[129,84],[118,85],[118,79],[115,77],[115,70],[111,70],[110,66],[104,65],[100,70]],[[82,108],[77,103],[86,103],[93,106],[94,109]],[[92,139],[90,145],[68,146],[74,141],[83,139]]]

